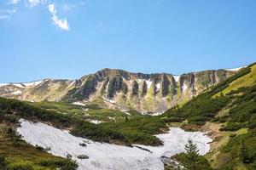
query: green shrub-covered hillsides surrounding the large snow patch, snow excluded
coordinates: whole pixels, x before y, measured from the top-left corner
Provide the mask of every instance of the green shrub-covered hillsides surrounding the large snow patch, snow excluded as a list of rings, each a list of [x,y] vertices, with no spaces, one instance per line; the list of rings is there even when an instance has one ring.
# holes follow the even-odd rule
[[[14,133],[20,118],[69,129],[73,135],[93,141],[129,146],[162,145],[154,134],[165,133],[168,127],[182,127],[190,131],[209,131],[213,139],[212,150],[205,157],[214,169],[253,170],[256,166],[255,75],[256,65],[249,65],[160,116],[143,116],[137,111],[122,112],[100,105],[0,98],[0,125],[6,129],[0,135],[0,155],[10,166],[19,166],[21,162],[34,169],[75,166],[72,161],[50,156],[21,140]],[[26,156],[21,154],[24,148],[27,148]],[[173,158],[183,163],[182,156]]]

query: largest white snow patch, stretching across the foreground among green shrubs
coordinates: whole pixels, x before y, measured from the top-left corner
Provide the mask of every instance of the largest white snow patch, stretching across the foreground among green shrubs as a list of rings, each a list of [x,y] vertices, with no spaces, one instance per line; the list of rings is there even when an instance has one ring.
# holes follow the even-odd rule
[[[210,150],[208,143],[212,141],[205,133],[185,132],[180,128],[172,127],[168,133],[156,135],[164,142],[163,146],[139,145],[151,150],[152,153],[150,153],[137,147],[98,143],[74,137],[67,130],[60,130],[40,122],[20,120],[17,132],[29,144],[50,147],[49,153],[55,156],[72,155],[79,164],[79,170],[164,170],[160,156],[173,156],[183,152],[188,139],[192,139],[197,144],[201,155]],[[87,146],[80,146],[81,143],[86,143]],[[83,154],[89,156],[89,159],[77,158]]]

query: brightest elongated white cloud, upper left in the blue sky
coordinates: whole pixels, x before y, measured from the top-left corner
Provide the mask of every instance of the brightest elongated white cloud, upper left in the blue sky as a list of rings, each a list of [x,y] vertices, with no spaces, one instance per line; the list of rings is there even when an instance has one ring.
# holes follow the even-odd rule
[[[55,4],[51,3],[48,5],[48,10],[52,14],[51,20],[53,21],[55,26],[58,26],[62,30],[69,31],[69,26],[66,19],[59,19],[57,16],[57,10],[55,8]]]

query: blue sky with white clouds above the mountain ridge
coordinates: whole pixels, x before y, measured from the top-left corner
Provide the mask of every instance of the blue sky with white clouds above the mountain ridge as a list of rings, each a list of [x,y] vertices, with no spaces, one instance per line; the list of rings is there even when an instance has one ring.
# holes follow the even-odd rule
[[[256,61],[255,0],[1,0],[0,82]]]

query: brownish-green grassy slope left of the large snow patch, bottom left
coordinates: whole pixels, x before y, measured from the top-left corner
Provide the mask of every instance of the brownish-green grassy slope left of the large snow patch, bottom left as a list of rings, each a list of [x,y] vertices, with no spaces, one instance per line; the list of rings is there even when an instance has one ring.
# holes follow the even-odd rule
[[[17,125],[17,117],[14,114],[0,110],[0,156],[5,157],[10,170],[21,169],[20,166],[36,170],[56,169],[57,167],[62,167],[63,170],[74,169],[72,161],[52,156],[44,150],[38,150],[26,144],[15,134],[14,129]]]

